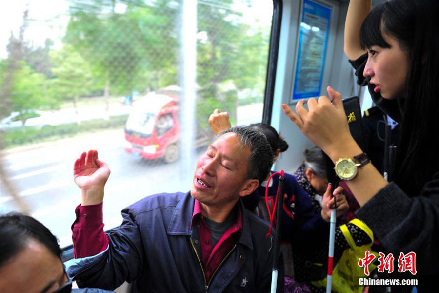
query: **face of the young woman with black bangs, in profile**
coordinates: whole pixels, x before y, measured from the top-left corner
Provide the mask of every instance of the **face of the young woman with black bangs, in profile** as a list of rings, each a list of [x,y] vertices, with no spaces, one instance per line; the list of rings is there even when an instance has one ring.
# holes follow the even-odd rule
[[[370,77],[375,92],[391,100],[406,94],[410,61],[396,38],[388,34],[383,34],[383,38],[390,48],[370,47],[363,75]]]

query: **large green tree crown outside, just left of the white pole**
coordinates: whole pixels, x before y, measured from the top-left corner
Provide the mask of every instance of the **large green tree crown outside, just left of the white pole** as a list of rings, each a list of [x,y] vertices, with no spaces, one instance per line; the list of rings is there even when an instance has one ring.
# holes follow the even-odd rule
[[[155,1],[126,3],[124,13],[115,6],[123,1],[72,1],[71,19],[64,41],[86,60],[105,86],[105,96],[129,94],[177,80],[176,8]],[[158,10],[164,7],[164,11]]]

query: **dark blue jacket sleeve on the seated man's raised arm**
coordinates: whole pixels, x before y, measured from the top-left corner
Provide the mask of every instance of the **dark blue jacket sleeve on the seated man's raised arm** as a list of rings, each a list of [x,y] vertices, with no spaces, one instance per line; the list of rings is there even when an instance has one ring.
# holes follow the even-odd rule
[[[108,244],[103,251],[96,255],[75,258],[66,263],[68,274],[77,281],[79,287],[114,290],[124,281],[133,282],[144,269],[145,255],[135,217],[129,208],[122,210],[122,216],[122,224],[104,234]],[[79,234],[79,239],[86,237],[83,231]],[[98,242],[97,240],[88,241],[92,243]],[[98,247],[98,245],[93,246],[93,249]]]

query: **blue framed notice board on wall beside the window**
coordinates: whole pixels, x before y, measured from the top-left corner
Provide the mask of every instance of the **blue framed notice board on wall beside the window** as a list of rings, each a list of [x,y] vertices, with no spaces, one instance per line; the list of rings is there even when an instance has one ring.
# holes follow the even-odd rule
[[[292,102],[320,96],[331,9],[303,1]]]

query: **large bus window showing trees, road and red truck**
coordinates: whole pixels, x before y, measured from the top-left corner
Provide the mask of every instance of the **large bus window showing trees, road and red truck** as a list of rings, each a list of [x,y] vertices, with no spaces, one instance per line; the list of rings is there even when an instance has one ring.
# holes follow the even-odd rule
[[[190,189],[214,109],[232,125],[262,119],[272,1],[26,3],[0,4],[0,120],[21,120],[0,126],[0,212],[28,212],[61,247],[72,243],[81,201],[72,167],[82,151],[97,149],[111,168],[107,230],[145,196]],[[183,14],[186,4],[196,5],[195,18]],[[184,31],[190,19],[196,26]],[[184,82],[189,72],[193,84]]]

